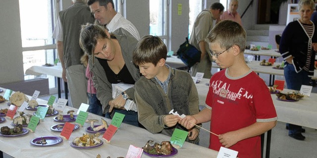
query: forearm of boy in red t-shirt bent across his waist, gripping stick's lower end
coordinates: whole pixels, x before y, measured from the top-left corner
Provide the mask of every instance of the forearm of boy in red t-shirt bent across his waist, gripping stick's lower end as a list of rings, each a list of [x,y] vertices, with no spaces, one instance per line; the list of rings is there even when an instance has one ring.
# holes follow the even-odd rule
[[[225,148],[229,148],[241,140],[261,135],[264,132],[275,127],[275,125],[276,125],[276,120],[270,121],[270,122],[256,122],[248,127],[241,128],[236,131],[230,131],[224,134],[220,134],[218,137],[219,142]]]

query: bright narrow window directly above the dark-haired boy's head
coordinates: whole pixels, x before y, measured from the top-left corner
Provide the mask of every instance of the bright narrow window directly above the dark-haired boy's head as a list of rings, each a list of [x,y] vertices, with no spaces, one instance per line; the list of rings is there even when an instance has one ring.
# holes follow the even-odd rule
[[[166,0],[150,0],[150,35],[159,36],[167,46]]]

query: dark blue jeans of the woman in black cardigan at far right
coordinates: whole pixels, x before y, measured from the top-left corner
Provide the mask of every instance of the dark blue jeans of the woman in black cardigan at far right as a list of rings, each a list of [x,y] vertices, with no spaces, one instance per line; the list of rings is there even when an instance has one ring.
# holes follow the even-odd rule
[[[305,70],[296,73],[294,65],[286,64],[284,67],[284,76],[286,81],[287,89],[297,90],[301,89],[302,85],[310,85],[310,78],[308,77],[308,72]],[[288,134],[301,133],[302,126],[294,124],[286,124],[289,127]]]

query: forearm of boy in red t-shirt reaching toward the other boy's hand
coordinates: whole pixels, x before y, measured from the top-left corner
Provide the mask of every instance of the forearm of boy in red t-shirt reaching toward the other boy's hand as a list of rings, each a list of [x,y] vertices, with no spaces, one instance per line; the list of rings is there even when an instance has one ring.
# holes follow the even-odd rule
[[[199,113],[192,116],[187,115],[185,118],[180,118],[178,121],[179,124],[186,127],[187,129],[193,128],[198,123],[208,122],[211,119],[211,109],[204,108]]]

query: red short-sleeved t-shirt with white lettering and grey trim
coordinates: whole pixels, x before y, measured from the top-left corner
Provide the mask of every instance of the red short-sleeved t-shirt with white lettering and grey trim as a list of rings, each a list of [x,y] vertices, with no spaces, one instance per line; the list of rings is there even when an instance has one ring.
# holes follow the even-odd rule
[[[226,69],[212,75],[206,104],[211,106],[211,132],[223,134],[254,124],[277,120],[273,101],[264,80],[255,72],[232,78]],[[222,146],[210,135],[209,148]],[[229,149],[238,151],[239,158],[261,158],[261,137],[242,140]]]

